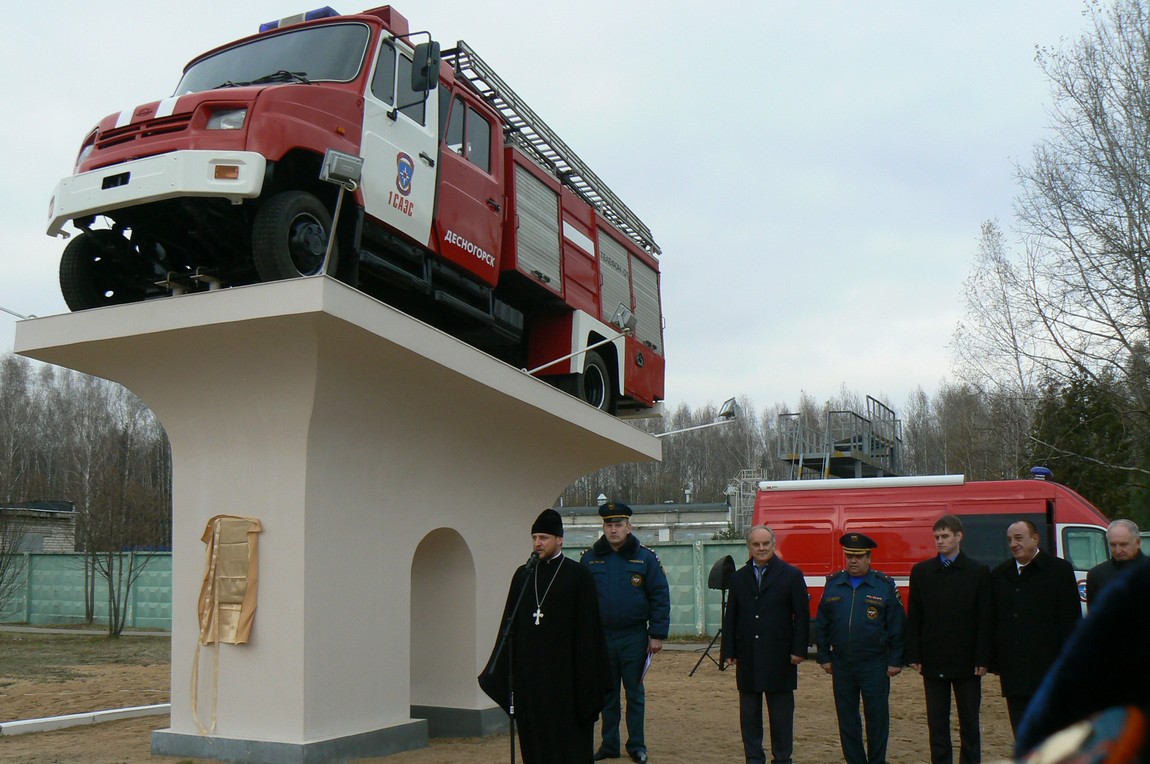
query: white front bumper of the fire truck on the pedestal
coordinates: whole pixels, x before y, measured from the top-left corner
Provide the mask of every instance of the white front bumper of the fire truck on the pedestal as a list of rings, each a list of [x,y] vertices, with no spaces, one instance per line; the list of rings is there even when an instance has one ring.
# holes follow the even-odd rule
[[[251,151],[176,151],[66,177],[48,205],[48,235],[77,217],[179,197],[240,204],[263,189],[267,159]]]

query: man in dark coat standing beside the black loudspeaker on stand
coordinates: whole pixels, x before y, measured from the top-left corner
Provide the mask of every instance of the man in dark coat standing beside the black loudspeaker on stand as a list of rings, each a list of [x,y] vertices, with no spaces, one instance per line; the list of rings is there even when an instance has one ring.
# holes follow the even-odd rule
[[[803,573],[775,553],[775,532],[746,534],[751,559],[730,576],[721,659],[735,666],[738,723],[747,764],[764,764],[762,697],[770,723],[770,761],[790,764],[795,747],[795,689],[806,659],[811,605]]]

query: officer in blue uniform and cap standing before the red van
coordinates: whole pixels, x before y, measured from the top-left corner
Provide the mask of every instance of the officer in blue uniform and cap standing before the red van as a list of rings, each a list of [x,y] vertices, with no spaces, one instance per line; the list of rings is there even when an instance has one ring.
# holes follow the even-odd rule
[[[819,665],[834,678],[838,740],[848,764],[885,764],[890,678],[903,670],[906,611],[895,581],[871,570],[871,550],[879,544],[861,533],[849,533],[838,543],[846,570],[827,579],[819,603],[814,621]]]

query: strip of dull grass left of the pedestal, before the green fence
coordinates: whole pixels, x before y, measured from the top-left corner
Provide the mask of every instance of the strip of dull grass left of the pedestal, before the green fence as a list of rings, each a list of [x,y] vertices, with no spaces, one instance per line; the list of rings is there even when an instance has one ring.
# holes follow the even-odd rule
[[[83,666],[150,666],[171,662],[162,636],[94,636],[0,632],[0,685],[15,680],[60,682],[82,675]]]

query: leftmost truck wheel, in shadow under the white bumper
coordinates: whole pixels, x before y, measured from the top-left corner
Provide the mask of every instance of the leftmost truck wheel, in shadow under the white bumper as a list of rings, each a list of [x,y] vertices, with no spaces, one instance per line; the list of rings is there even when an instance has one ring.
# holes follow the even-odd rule
[[[71,311],[123,305],[144,299],[141,262],[118,231],[78,234],[60,255],[60,291]]]

